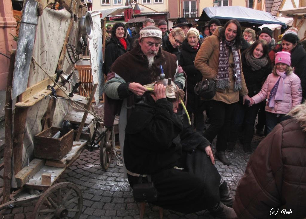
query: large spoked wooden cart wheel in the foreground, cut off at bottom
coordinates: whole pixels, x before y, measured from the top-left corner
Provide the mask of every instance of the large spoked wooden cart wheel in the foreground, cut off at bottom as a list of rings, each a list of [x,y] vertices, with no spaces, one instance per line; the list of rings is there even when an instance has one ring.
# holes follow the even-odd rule
[[[73,183],[60,182],[48,188],[38,199],[33,217],[35,219],[80,218],[83,196]]]

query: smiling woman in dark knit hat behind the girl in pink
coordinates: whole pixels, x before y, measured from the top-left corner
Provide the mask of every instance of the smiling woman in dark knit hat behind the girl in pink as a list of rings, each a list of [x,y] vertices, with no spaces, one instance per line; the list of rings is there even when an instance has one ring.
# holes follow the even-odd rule
[[[296,34],[284,34],[282,37],[282,46],[278,51],[271,51],[269,56],[273,59],[272,65],[274,66],[275,53],[277,52],[291,53],[291,67],[301,80],[302,86],[302,100],[306,98],[306,51],[299,43],[299,37]]]

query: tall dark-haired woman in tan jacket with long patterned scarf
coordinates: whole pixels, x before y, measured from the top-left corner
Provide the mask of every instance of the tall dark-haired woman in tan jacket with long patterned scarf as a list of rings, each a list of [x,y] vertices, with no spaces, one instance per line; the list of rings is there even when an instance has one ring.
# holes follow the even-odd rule
[[[240,44],[241,26],[237,20],[229,20],[206,38],[195,59],[203,80],[216,79],[216,94],[206,101],[211,125],[203,136],[212,142],[218,135],[215,157],[225,165],[231,164],[225,149],[235,105],[239,95],[243,96],[243,101],[250,99],[242,74]]]

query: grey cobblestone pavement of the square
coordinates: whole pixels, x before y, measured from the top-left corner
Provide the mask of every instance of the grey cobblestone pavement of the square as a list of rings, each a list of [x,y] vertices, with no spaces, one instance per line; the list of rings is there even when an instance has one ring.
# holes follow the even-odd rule
[[[254,135],[252,150],[254,151],[263,137]],[[215,141],[212,144],[215,150]],[[84,150],[76,160],[62,174],[59,181],[72,182],[79,186],[83,193],[83,210],[81,219],[140,218],[140,203],[134,202],[132,191],[128,181],[123,177],[123,169],[117,166],[114,159],[110,168],[104,171],[100,166],[99,150]],[[244,174],[249,154],[243,152],[242,144],[236,144],[233,152],[227,152],[232,165],[226,166],[217,161],[217,167],[221,176],[230,186],[230,191],[235,195],[236,187]],[[33,218],[34,205],[23,205],[13,209],[0,211],[0,219],[3,218]],[[3,216],[2,216],[3,215]],[[146,204],[144,218],[159,218],[159,207]],[[181,214],[178,212],[163,210],[163,218],[213,218],[207,211],[195,214]]]

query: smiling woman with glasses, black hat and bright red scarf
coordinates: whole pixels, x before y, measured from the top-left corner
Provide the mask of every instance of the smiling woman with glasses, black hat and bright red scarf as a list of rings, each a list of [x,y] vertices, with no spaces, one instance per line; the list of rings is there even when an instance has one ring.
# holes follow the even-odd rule
[[[108,74],[110,71],[110,67],[114,63],[114,61],[124,53],[126,53],[130,48],[130,43],[125,39],[127,34],[127,30],[123,23],[117,22],[114,24],[111,30],[112,37],[110,41],[106,44],[105,47],[105,72],[104,74]]]

